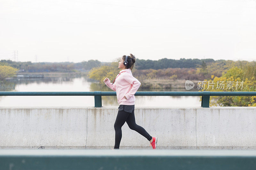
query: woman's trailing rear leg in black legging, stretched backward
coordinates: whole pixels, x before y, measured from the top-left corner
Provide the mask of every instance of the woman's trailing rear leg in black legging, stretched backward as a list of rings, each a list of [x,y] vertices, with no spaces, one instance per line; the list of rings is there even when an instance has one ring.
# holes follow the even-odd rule
[[[135,123],[134,110],[132,110],[132,113],[130,115],[128,115],[128,117],[126,119],[126,123],[128,124],[130,129],[135,130],[140,135],[146,137],[148,139],[148,141],[150,141],[152,139],[152,137],[148,134],[148,132],[144,128],[142,128],[141,126],[139,126]]]

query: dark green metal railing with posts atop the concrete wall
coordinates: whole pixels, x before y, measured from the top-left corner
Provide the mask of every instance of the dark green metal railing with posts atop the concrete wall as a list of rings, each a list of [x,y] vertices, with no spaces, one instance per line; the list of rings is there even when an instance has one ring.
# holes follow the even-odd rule
[[[210,96],[256,96],[256,92],[136,92],[135,96],[202,96],[201,107],[209,107]],[[0,96],[94,96],[94,107],[102,107],[101,96],[116,92],[0,92]]]

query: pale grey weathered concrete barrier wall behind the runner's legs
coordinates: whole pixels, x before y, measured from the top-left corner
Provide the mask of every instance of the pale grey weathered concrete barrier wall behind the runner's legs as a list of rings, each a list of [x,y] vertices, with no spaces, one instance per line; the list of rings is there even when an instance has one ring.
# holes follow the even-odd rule
[[[0,148],[110,149],[118,107],[0,107]],[[158,149],[256,149],[255,107],[135,107]],[[151,149],[122,127],[120,149]]]

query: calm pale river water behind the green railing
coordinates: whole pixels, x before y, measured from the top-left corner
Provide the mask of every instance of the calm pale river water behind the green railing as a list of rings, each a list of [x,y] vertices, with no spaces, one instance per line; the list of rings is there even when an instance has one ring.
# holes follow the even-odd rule
[[[105,84],[82,76],[9,79],[1,83],[1,91],[71,92],[108,91]],[[169,89],[139,89],[138,91],[170,91]],[[171,89],[186,91],[186,89]],[[196,90],[195,90],[196,91]],[[135,106],[201,106],[199,96],[135,96]],[[0,96],[1,107],[84,107],[94,106],[94,96]],[[102,96],[102,106],[119,106],[116,96]]]

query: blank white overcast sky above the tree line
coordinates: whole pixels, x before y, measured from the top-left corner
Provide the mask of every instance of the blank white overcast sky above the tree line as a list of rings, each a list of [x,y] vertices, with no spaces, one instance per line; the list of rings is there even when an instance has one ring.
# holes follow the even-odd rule
[[[256,0],[0,0],[0,59],[256,60]],[[36,56],[36,57],[35,57]],[[16,57],[17,61],[17,57]]]

